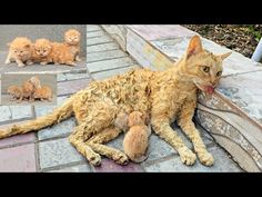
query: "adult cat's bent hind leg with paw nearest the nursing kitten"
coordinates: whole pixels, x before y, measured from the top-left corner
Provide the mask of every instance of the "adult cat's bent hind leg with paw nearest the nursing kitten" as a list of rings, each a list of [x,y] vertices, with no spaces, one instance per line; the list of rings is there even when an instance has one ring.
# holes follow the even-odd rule
[[[118,128],[108,128],[102,132],[94,135],[87,144],[98,154],[111,158],[117,164],[127,165],[129,158],[127,155],[115,148],[108,147],[105,144],[112,139],[115,139],[122,131]]]

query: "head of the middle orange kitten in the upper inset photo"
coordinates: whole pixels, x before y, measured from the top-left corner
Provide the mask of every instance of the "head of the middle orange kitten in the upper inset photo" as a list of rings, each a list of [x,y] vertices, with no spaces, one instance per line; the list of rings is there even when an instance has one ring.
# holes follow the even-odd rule
[[[48,39],[38,39],[33,45],[33,50],[38,57],[44,58],[50,55],[52,45]]]

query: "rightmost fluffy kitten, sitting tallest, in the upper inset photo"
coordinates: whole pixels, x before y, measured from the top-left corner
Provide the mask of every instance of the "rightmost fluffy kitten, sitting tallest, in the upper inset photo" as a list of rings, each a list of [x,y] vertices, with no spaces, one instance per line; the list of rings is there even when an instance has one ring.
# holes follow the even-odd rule
[[[81,33],[75,29],[69,29],[64,32],[64,43],[70,48],[70,51],[74,56],[75,61],[81,61],[80,59],[80,40]]]

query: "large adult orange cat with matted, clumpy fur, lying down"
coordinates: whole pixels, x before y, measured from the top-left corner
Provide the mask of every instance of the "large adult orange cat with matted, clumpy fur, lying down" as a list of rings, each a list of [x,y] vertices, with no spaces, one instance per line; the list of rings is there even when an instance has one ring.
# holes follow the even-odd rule
[[[164,71],[138,69],[102,81],[93,81],[72,95],[51,114],[0,130],[0,138],[36,131],[75,116],[78,126],[69,141],[92,165],[100,165],[101,156],[118,164],[127,164],[124,152],[103,144],[117,138],[121,130],[114,127],[120,112],[140,111],[150,115],[153,131],[172,146],[185,165],[193,165],[196,156],[205,165],[213,164],[198,129],[192,121],[198,90],[212,93],[222,73],[222,61],[230,56],[213,55],[202,48],[194,36],[185,55]],[[193,144],[189,149],[170,126],[178,121]],[[195,155],[196,154],[196,155]]]

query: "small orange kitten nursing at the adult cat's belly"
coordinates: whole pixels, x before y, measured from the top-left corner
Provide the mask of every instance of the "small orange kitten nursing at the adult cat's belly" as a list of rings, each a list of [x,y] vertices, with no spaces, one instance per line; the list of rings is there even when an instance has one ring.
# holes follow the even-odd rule
[[[145,125],[145,116],[139,111],[129,115],[129,131],[123,139],[124,154],[134,162],[142,162],[148,158],[145,151],[149,146],[151,129]]]

